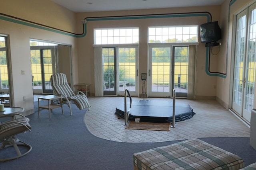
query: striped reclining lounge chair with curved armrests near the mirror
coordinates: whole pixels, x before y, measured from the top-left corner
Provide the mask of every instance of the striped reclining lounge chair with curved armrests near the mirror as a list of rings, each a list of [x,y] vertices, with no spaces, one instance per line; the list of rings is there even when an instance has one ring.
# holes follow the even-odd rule
[[[51,85],[53,94],[56,96],[62,96],[62,104],[67,104],[70,109],[70,115],[72,115],[71,103],[81,110],[91,107],[86,95],[81,91],[76,91],[76,94],[71,90],[68,85],[66,74],[57,73],[51,76]]]

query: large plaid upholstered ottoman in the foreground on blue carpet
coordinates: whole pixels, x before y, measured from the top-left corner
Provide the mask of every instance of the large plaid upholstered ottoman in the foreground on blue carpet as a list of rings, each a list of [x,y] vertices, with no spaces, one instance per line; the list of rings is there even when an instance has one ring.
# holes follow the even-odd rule
[[[238,170],[244,161],[199,139],[133,154],[134,170]]]

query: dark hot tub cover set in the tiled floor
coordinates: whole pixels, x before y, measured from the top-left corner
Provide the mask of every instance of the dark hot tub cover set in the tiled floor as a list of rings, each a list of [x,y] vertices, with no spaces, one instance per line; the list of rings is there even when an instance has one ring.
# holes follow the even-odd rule
[[[129,107],[130,103],[126,107]],[[166,123],[173,119],[173,102],[171,100],[137,100],[132,101],[129,120],[140,118],[140,121]],[[116,107],[116,115],[124,118],[124,102]],[[175,122],[192,118],[196,113],[189,104],[175,103]]]

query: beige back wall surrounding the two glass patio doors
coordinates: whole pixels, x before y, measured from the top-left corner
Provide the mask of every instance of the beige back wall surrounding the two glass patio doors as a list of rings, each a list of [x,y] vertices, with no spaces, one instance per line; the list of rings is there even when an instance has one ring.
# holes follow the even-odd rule
[[[204,6],[193,8],[168,8],[154,10],[129,10],[129,11],[113,11],[113,12],[90,12],[78,13],[77,20],[81,21],[88,17],[106,17],[106,16],[127,16],[127,15],[148,15],[148,14],[175,14],[175,13],[192,13],[192,12],[210,12],[212,21],[220,19],[220,6]],[[147,32],[148,26],[164,26],[164,25],[200,25],[206,23],[205,16],[196,17],[172,17],[157,19],[129,19],[129,20],[107,20],[107,21],[88,21],[86,23],[87,33],[83,38],[78,39],[78,72],[79,81],[82,83],[91,83],[92,92],[94,92],[94,52],[92,44],[94,28],[113,28],[113,27],[139,27],[140,43],[139,43],[139,73],[148,71],[147,56]],[[79,24],[78,27],[81,27]],[[200,35],[199,41],[200,41]],[[196,56],[196,96],[197,98],[214,98],[216,96],[216,76],[206,74],[206,47],[204,43],[199,43]],[[211,58],[211,71],[217,71],[217,56]],[[142,82],[140,81],[140,87]],[[141,90],[141,88],[139,88]]]

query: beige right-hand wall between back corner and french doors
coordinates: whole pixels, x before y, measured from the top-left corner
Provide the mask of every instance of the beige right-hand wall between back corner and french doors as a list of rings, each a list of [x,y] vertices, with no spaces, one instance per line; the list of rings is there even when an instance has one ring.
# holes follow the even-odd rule
[[[217,78],[217,93],[216,98],[227,109],[232,104],[232,59],[234,58],[233,51],[234,45],[233,29],[234,29],[234,15],[236,15],[242,9],[245,9],[248,4],[256,2],[255,0],[233,0],[230,4],[230,0],[225,0],[221,6],[221,19],[220,27],[222,28],[222,40],[220,55],[218,56],[218,71],[227,72],[226,78]],[[229,9],[230,8],[230,13]],[[228,22],[228,17],[230,17]],[[227,71],[226,68],[227,59]]]

